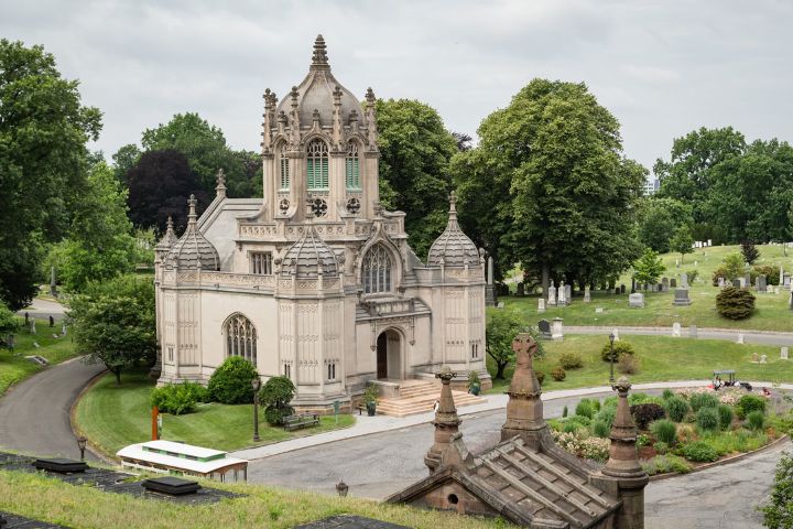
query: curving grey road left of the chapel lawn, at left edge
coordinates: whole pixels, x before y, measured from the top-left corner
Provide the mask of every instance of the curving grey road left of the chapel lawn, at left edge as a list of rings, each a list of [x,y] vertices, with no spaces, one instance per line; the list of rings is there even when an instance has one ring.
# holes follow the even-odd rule
[[[69,411],[85,385],[104,370],[75,358],[12,387],[0,399],[0,447],[79,458]],[[88,451],[86,457],[96,460]]]

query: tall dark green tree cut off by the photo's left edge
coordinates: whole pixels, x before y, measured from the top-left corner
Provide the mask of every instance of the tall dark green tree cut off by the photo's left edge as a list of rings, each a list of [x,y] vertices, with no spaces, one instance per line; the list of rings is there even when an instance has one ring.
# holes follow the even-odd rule
[[[77,86],[43,47],[0,40],[0,298],[12,309],[32,299],[44,244],[63,237],[85,191],[101,115]]]

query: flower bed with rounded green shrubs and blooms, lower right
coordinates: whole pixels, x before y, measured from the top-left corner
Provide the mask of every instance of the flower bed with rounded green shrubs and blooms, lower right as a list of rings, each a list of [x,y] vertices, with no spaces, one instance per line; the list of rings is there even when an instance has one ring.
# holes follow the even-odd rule
[[[634,422],[645,424],[638,430],[637,450],[649,475],[691,472],[793,432],[793,396],[781,391],[686,388],[663,397],[632,393],[630,403]],[[578,414],[548,421],[554,440],[578,457],[606,462],[616,407],[615,397],[583,399]]]

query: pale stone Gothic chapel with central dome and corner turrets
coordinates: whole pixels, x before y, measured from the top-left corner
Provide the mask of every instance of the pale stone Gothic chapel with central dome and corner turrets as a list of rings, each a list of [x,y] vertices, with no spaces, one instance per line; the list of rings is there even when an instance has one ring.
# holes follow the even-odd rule
[[[155,251],[160,384],[205,384],[229,356],[290,377],[293,406],[346,407],[371,380],[433,379],[441,366],[485,388],[485,261],[448,224],[422,262],[402,212],[379,203],[374,94],[330,72],[325,41],[279,102],[264,91],[263,197],[229,198],[222,172],[200,218]]]

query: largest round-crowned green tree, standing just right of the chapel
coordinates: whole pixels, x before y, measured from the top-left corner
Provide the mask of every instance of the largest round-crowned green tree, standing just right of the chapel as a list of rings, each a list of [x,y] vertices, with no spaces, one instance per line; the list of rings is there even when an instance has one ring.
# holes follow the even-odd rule
[[[584,84],[534,79],[478,132],[479,147],[458,154],[452,170],[464,226],[489,233],[499,268],[521,262],[547,291],[552,274],[584,285],[639,257],[647,171],[624,159],[618,121]]]

